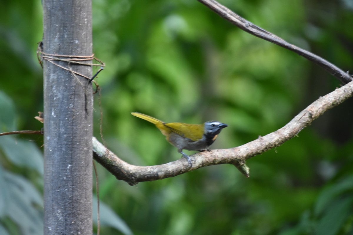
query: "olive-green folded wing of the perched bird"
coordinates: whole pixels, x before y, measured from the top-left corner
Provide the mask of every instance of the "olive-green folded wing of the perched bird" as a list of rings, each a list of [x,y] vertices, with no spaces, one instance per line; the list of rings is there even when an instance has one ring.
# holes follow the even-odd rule
[[[188,138],[191,141],[197,141],[202,139],[204,126],[200,124],[185,124],[179,122],[172,122],[164,124],[170,130],[177,133],[184,138]]]

